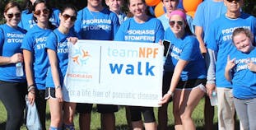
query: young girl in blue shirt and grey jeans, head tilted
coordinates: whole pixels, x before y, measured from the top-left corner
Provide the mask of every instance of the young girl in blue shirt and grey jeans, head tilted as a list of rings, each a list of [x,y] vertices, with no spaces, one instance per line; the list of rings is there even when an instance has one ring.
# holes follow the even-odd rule
[[[244,130],[256,129],[256,49],[249,29],[237,28],[232,34],[237,51],[227,58],[225,77],[232,81],[235,109]]]

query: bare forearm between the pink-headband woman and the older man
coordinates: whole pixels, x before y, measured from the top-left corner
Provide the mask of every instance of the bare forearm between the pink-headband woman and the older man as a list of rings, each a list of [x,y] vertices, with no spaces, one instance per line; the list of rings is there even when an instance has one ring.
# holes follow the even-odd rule
[[[203,53],[207,53],[207,49],[202,39],[202,33],[203,33],[202,26],[195,26],[195,35],[197,36],[197,39],[199,42],[200,51],[203,54]]]

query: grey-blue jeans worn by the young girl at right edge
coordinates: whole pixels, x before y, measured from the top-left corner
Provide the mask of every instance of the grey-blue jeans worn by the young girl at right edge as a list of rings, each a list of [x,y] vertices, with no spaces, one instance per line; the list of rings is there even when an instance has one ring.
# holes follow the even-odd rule
[[[234,98],[234,103],[244,130],[256,130],[256,98],[248,100]]]

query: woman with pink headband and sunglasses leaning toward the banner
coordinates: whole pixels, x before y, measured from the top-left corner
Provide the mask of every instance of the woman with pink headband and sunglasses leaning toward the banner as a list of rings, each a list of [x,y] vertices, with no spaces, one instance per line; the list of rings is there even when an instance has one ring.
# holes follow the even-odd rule
[[[191,116],[205,93],[206,66],[198,40],[187,26],[185,13],[180,10],[171,12],[169,24],[165,39],[170,41],[172,48],[165,64],[170,64],[174,74],[170,89],[162,98],[161,104],[165,104],[172,97],[175,129],[195,130]]]

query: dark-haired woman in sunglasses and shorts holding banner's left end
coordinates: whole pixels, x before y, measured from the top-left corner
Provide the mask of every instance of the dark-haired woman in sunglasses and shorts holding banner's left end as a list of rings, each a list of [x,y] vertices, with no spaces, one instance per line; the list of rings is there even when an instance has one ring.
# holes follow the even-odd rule
[[[77,9],[72,5],[66,5],[59,14],[60,25],[46,41],[46,51],[49,56],[50,67],[46,77],[46,95],[49,102],[51,123],[49,130],[61,129],[63,109],[63,78],[67,71],[68,49],[67,39],[74,39],[77,36],[70,30],[77,20]],[[73,116],[76,110],[76,103],[64,103],[64,129],[74,129]]]

